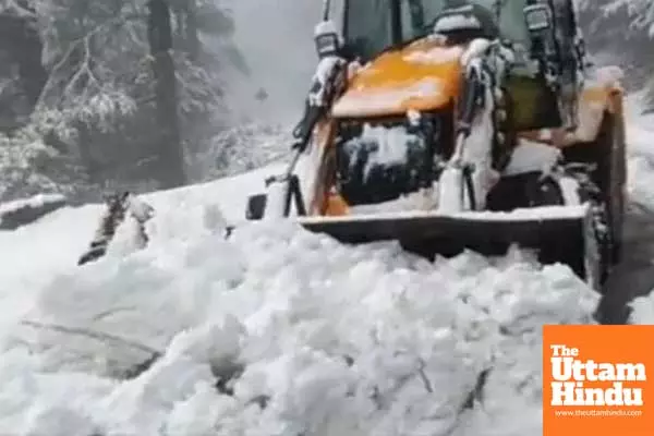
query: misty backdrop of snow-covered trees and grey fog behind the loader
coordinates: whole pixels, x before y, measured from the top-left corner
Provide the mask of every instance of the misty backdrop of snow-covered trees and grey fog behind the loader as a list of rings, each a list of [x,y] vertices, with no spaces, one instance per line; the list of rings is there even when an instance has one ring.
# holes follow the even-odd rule
[[[171,50],[153,2],[168,8]],[[322,5],[0,0],[0,202],[39,192],[96,202],[110,190],[179,184],[171,174],[180,168],[186,184],[287,153],[316,62]],[[628,89],[654,107],[654,0],[577,7],[594,61],[622,66]],[[169,92],[180,119],[172,142],[161,129]]]

